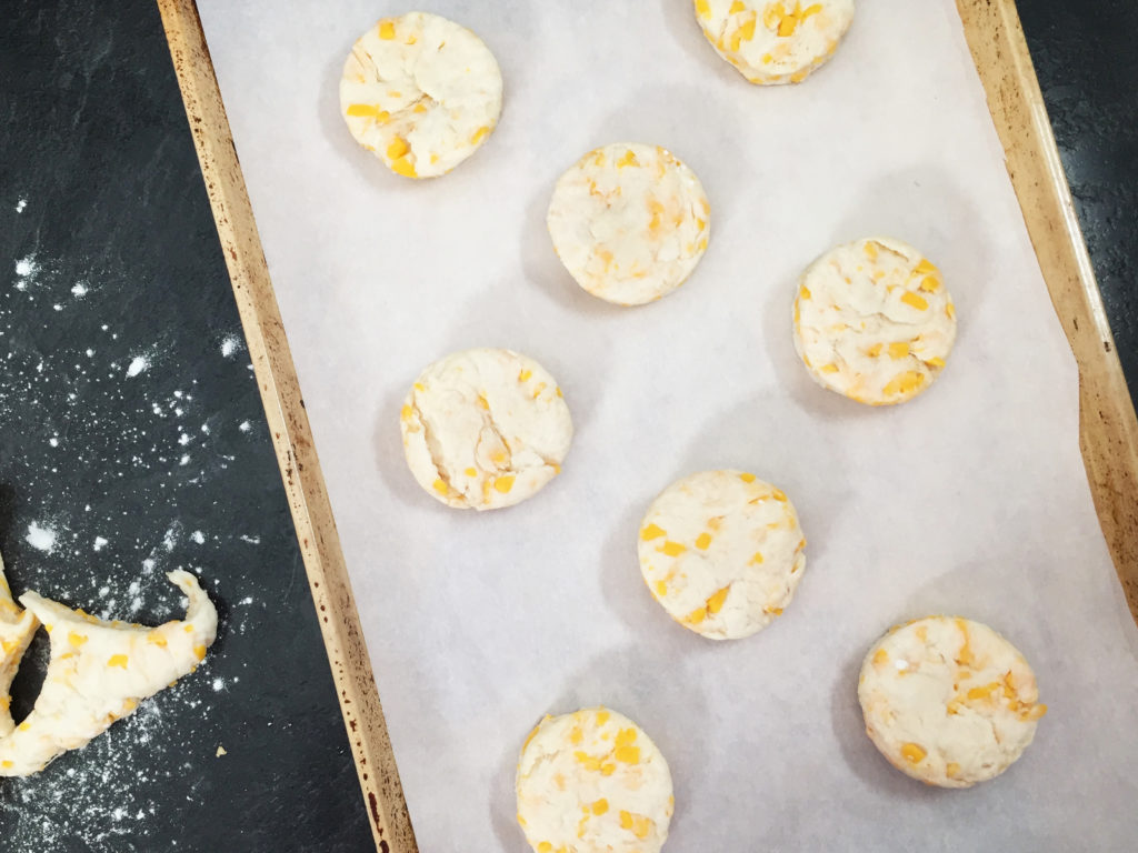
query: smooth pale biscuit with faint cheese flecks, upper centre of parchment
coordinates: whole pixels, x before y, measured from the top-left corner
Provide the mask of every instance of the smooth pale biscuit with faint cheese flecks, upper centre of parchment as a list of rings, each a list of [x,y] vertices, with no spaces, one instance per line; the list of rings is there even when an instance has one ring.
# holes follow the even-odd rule
[[[659,146],[589,151],[558,180],[546,225],[569,274],[595,297],[643,305],[678,288],[707,250],[703,185]]]

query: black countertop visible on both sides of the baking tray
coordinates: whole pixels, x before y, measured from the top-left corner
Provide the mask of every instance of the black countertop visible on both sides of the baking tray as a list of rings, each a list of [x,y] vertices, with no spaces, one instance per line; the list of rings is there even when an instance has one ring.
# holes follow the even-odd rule
[[[1138,390],[1138,5],[1021,0],[1020,10]],[[371,850],[157,9],[9,0],[5,13],[9,580],[17,594],[158,622],[179,603],[163,573],[184,566],[200,573],[222,628],[197,673],[85,751],[32,779],[0,779],[0,846]],[[17,719],[44,646],[20,671]]]

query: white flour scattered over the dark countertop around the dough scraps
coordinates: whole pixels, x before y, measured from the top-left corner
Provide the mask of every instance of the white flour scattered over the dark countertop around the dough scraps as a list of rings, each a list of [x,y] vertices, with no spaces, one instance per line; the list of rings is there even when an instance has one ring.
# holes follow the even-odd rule
[[[5,548],[16,593],[34,588],[100,619],[158,624],[182,605],[165,573],[187,569],[208,579],[203,582],[223,613],[221,636],[244,635],[247,616],[263,608],[261,596],[238,596],[226,607],[222,581],[207,569],[208,550],[259,539],[241,532],[207,540],[179,517],[179,505],[183,495],[208,492],[237,461],[225,452],[233,442],[218,446],[213,437],[244,438],[239,424],[249,421],[207,408],[198,376],[180,367],[168,346],[137,339],[104,298],[121,292],[121,282],[97,274],[73,282],[63,266],[24,256],[14,264],[13,287],[0,292],[0,537],[16,543]],[[238,375],[248,382],[246,371]],[[9,444],[14,430],[18,448]],[[94,475],[68,477],[82,470]],[[52,488],[38,500],[22,495],[25,482],[46,479]],[[140,498],[158,508],[149,521],[139,517]],[[48,651],[41,631],[14,689],[17,720],[31,710]],[[160,782],[201,777],[201,765],[216,760],[217,738],[185,721],[220,722],[225,694],[239,688],[247,669],[229,665],[215,674],[212,659],[84,750],[0,786],[0,826],[14,823],[6,840],[15,850],[53,850],[80,837],[93,850],[149,848],[148,825],[165,808]],[[193,788],[185,794],[191,800]],[[50,820],[39,817],[47,814]]]

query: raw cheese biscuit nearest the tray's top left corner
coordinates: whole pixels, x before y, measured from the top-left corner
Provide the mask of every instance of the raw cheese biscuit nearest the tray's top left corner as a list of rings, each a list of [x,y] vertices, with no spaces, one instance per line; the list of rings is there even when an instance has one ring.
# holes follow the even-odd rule
[[[340,110],[356,141],[393,172],[436,177],[494,132],[502,72],[472,32],[412,11],[380,20],[353,45]]]

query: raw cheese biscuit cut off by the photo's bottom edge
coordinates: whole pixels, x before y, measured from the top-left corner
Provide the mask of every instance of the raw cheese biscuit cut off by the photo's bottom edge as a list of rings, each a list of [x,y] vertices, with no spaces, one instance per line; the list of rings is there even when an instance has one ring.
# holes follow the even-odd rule
[[[655,853],[675,806],[655,744],[604,707],[542,720],[521,748],[516,789],[537,853]]]

